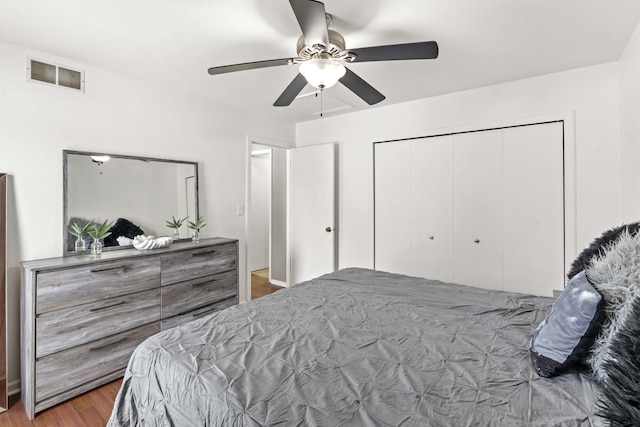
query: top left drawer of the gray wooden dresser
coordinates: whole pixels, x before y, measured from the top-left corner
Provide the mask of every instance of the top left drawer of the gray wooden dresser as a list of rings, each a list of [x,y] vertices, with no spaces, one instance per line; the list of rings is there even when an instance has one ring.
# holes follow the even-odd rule
[[[153,289],[160,282],[160,260],[136,259],[39,273],[36,313]]]

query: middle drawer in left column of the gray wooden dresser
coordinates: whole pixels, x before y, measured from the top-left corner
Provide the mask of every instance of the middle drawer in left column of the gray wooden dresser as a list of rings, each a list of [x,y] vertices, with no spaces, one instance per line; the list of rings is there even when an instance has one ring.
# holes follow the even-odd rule
[[[36,357],[160,320],[160,288],[43,313],[36,318]]]

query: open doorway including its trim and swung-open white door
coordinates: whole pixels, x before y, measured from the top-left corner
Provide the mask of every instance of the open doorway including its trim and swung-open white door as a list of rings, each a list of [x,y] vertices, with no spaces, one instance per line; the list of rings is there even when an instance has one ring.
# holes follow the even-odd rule
[[[246,288],[241,298],[251,299],[251,282],[259,275],[268,276],[271,285],[288,287],[335,271],[335,168],[333,143],[293,148],[247,138]],[[238,205],[238,215],[245,215],[244,205]]]

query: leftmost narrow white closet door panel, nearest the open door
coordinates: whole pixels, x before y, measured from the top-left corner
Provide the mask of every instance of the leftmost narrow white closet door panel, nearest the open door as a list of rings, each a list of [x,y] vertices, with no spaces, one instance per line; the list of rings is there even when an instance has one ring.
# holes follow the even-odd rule
[[[411,143],[376,144],[375,268],[411,272]]]

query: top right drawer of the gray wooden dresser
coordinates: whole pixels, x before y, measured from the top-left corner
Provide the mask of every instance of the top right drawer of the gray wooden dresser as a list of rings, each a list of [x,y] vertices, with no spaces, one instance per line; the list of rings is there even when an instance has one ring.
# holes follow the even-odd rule
[[[236,270],[237,245],[227,243],[162,256],[162,286]]]

